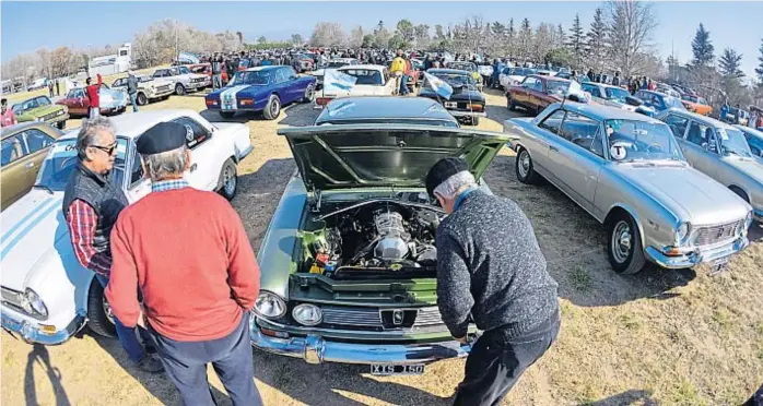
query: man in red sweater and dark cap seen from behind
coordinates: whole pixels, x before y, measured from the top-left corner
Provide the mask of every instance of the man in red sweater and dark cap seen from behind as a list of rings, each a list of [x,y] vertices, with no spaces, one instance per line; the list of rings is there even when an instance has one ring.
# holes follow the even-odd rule
[[[214,404],[212,362],[234,405],[261,405],[248,334],[260,272],[242,220],[225,199],[183,178],[185,126],[159,123],[137,150],[152,192],[125,208],[111,231],[111,310],[127,326],[146,325],[184,404]]]

